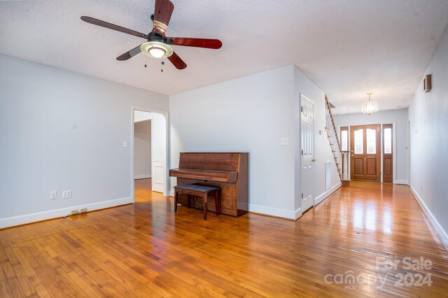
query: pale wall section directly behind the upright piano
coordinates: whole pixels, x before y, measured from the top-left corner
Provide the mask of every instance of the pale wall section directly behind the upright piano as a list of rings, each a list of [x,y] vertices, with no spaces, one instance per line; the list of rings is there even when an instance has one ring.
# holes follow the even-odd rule
[[[293,83],[285,66],[170,96],[171,168],[182,151],[249,152],[249,209],[293,218]]]

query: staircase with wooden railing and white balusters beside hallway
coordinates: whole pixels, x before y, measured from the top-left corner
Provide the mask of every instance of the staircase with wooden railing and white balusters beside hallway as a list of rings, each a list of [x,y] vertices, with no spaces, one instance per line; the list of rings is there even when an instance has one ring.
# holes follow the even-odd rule
[[[330,101],[325,95],[325,130],[327,131],[328,141],[330,142],[330,147],[335,157],[335,163],[337,168],[337,173],[339,173],[339,178],[341,179],[342,186],[350,186],[349,180],[349,151],[341,150],[341,143],[337,137],[337,130],[335,125],[335,120],[331,113]]]

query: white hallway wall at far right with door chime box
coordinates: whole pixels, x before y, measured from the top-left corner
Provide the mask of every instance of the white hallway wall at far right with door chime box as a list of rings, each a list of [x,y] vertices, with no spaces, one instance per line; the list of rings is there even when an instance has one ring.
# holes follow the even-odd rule
[[[421,82],[409,106],[410,185],[448,248],[448,31],[425,73],[433,89]]]

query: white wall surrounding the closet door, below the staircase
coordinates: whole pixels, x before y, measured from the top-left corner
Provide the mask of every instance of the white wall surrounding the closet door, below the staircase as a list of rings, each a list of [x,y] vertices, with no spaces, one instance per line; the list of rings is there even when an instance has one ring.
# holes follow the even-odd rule
[[[313,194],[314,203],[318,204],[328,197],[331,192],[341,185],[339,174],[337,173],[335,158],[332,155],[330,142],[325,132],[325,94],[314,84],[307,76],[294,67],[294,85],[295,85],[295,211],[300,208],[300,94],[314,102],[314,159],[313,163]],[[323,134],[319,134],[323,130]],[[325,190],[325,162],[331,163],[331,187]],[[300,212],[303,212],[302,210]]]

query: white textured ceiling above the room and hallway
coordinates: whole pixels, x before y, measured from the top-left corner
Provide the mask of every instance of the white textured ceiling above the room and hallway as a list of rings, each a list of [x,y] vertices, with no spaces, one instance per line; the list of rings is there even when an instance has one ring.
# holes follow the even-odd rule
[[[116,60],[144,39],[79,18],[148,33],[154,1],[0,1],[0,53],[165,94],[295,64],[355,113],[369,91],[380,110],[407,106],[448,24],[447,0],[172,0],[167,36],[223,48],[174,47],[187,69],[161,72],[143,54]]]

